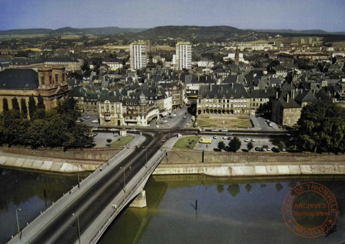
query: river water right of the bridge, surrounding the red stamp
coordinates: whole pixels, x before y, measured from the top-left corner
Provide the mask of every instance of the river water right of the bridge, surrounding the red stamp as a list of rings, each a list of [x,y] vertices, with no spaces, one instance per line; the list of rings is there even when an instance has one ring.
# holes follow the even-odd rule
[[[339,231],[328,237],[297,236],[284,222],[286,194],[307,181],[336,197]],[[345,240],[344,186],[345,177],[152,176],[145,186],[147,207],[125,209],[99,243],[339,243]]]

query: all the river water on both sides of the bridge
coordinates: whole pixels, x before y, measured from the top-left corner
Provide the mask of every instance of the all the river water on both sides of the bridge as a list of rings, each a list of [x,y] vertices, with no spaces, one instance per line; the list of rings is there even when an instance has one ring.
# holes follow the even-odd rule
[[[18,219],[23,227],[78,182],[77,175],[11,169],[1,169],[0,175],[0,243],[17,231],[16,208],[22,209]],[[337,231],[331,235],[300,237],[285,224],[283,201],[301,182],[318,182],[334,194],[338,204]],[[345,240],[344,186],[345,177],[333,176],[151,176],[145,186],[147,207],[124,209],[99,243],[336,244]]]

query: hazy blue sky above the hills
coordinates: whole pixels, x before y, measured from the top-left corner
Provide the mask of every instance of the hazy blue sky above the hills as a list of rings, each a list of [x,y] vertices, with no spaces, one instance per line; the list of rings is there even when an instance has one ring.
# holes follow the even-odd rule
[[[345,0],[0,0],[0,30],[164,25],[345,31]]]

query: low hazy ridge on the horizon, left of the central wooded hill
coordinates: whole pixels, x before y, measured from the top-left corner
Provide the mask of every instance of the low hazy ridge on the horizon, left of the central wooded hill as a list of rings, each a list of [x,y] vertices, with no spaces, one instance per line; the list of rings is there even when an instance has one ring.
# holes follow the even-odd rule
[[[0,31],[0,36],[5,35],[38,35],[38,34],[59,34],[59,33],[75,33],[75,34],[92,34],[95,36],[114,35],[120,33],[137,33],[145,31],[146,28],[119,28],[119,27],[99,27],[99,28],[72,28],[63,27],[59,29],[9,29]]]

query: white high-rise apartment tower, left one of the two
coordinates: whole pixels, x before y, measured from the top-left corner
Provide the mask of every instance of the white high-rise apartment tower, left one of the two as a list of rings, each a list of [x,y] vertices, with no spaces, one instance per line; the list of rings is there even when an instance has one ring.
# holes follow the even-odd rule
[[[130,64],[132,70],[146,67],[145,42],[133,42],[130,44]]]

